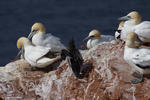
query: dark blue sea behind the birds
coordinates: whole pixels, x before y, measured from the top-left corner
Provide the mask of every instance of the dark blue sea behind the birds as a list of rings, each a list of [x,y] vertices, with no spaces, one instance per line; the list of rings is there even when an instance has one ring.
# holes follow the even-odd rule
[[[74,38],[79,48],[92,29],[114,35],[118,17],[134,10],[150,20],[150,0],[0,0],[0,65],[15,58],[17,39],[27,36],[35,22],[66,46]]]

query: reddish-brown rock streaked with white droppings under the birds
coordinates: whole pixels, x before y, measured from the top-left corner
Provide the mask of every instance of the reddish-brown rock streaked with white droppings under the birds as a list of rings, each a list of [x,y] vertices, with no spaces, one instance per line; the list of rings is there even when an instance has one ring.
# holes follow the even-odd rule
[[[18,60],[0,68],[0,98],[5,100],[148,100],[150,79],[130,82],[133,69],[123,60],[121,42],[103,43],[81,51],[92,70],[77,79],[67,62],[57,69],[25,71],[31,67]],[[56,65],[54,65],[56,66]],[[52,66],[49,66],[52,67]]]

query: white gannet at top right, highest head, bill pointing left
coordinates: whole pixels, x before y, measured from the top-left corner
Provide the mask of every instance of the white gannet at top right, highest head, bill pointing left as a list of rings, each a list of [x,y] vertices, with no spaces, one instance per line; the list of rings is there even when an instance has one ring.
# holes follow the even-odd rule
[[[150,42],[150,21],[141,22],[138,12],[132,11],[119,19],[126,20],[122,28],[121,39],[125,41],[127,33],[135,32],[142,42]]]

